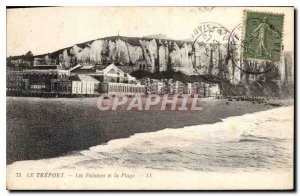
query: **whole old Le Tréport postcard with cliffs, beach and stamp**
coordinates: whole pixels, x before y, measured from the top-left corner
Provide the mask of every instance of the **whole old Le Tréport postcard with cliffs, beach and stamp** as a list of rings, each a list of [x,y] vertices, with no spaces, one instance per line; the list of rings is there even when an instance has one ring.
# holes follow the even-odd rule
[[[7,8],[9,190],[293,190],[293,7]]]

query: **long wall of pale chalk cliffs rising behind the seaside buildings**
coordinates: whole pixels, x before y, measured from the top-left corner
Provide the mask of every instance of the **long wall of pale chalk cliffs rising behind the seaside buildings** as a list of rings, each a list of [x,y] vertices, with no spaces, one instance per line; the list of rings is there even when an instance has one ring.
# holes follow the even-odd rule
[[[193,44],[191,41],[114,36],[76,44],[44,55],[15,56],[8,58],[8,61],[12,65],[28,64],[22,67],[30,67],[32,64],[60,64],[65,69],[78,63],[115,63],[122,66],[126,72],[140,69],[152,73],[174,70],[186,75],[214,75],[225,78],[233,84],[271,78],[271,76],[266,78],[266,74],[243,73],[241,69],[246,70],[247,63],[240,65],[239,52],[228,51],[227,44],[203,42]],[[293,61],[290,60],[293,58],[287,58],[286,53],[283,56],[277,65],[282,81],[291,78],[290,75],[293,73],[291,68]],[[278,74],[271,75],[276,78]]]

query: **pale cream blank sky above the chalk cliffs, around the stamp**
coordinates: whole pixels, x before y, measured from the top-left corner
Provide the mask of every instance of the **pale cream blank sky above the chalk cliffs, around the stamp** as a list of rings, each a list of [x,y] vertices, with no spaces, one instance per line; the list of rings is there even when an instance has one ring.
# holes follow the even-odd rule
[[[50,53],[107,36],[165,34],[190,39],[203,22],[231,30],[243,21],[243,10],[283,13],[285,50],[294,48],[292,7],[52,7],[7,10],[7,54]]]

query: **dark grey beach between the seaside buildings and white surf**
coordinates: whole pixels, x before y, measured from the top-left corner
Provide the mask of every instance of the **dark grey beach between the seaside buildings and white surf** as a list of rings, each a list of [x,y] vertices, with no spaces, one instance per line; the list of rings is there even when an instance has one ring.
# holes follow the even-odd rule
[[[100,112],[96,98],[69,101],[7,97],[6,102],[7,164],[63,156],[135,133],[212,124],[226,117],[278,108],[239,101],[226,105],[225,100],[203,99],[201,111]]]

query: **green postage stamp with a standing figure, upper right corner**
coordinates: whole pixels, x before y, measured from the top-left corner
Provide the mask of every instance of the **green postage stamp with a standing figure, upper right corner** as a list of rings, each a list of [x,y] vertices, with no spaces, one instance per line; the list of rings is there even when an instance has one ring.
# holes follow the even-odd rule
[[[243,57],[277,62],[283,36],[283,14],[244,11]]]

